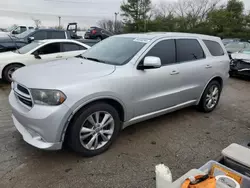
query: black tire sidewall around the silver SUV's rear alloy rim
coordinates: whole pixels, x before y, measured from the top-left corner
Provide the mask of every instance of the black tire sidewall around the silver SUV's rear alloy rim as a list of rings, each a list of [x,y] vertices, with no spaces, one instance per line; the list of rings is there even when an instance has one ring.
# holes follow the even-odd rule
[[[207,95],[209,89],[210,89],[212,86],[214,86],[214,85],[217,86],[218,89],[219,89],[218,100],[217,100],[217,103],[215,104],[215,106],[214,106],[213,108],[208,108],[208,107],[206,106],[206,95]],[[205,91],[204,91],[204,93],[203,93],[203,95],[202,95],[202,99],[201,99],[201,101],[200,101],[200,108],[201,108],[201,110],[204,111],[204,112],[206,112],[206,113],[212,112],[212,111],[217,107],[217,105],[218,105],[218,103],[219,103],[219,101],[220,101],[221,91],[222,91],[222,88],[221,88],[221,85],[220,85],[220,83],[219,83],[218,81],[212,81],[212,82],[210,82],[210,83],[208,84],[208,86],[206,87],[206,89],[205,89]]]

